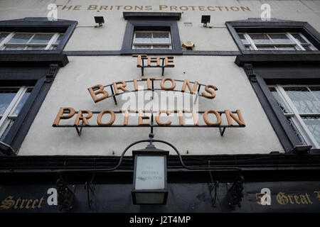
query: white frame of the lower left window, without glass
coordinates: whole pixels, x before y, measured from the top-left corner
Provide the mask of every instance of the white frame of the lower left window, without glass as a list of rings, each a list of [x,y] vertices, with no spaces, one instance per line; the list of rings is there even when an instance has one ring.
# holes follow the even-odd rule
[[[6,111],[4,111],[4,114],[0,116],[0,138],[6,131],[6,128],[9,126],[10,121],[18,117],[18,115],[14,114],[16,106],[18,106],[19,102],[21,101],[23,94],[25,94],[30,88],[32,89],[33,87],[0,87],[0,89],[18,89],[14,99],[11,100],[9,106],[6,108]]]

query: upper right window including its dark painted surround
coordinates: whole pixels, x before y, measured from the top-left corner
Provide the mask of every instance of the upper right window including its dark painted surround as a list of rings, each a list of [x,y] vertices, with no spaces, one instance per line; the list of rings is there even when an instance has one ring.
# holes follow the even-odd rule
[[[302,50],[320,50],[320,33],[304,21],[247,18],[227,21],[225,25],[243,54],[269,53],[273,50],[294,55]]]

